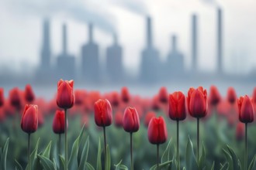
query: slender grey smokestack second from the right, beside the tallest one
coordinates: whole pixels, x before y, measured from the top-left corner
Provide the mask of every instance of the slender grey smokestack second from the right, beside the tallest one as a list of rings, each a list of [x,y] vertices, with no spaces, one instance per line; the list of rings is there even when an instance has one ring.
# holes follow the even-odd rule
[[[198,49],[198,37],[197,37],[197,15],[192,15],[192,70],[197,70],[197,49]]]

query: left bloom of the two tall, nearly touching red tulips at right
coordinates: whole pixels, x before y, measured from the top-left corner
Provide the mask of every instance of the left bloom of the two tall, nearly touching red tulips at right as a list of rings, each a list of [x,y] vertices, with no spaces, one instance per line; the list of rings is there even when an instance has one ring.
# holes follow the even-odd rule
[[[186,117],[185,95],[181,91],[169,95],[169,117],[174,121],[183,121]]]

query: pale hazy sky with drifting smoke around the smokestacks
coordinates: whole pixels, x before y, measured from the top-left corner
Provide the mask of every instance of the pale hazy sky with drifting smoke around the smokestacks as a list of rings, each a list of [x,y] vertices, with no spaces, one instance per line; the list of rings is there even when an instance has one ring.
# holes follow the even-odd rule
[[[61,25],[67,23],[68,50],[81,56],[88,41],[87,23],[95,22],[95,42],[102,60],[117,32],[123,46],[126,69],[137,71],[145,46],[145,16],[153,21],[154,46],[165,59],[171,35],[178,36],[178,48],[191,63],[191,15],[199,15],[199,69],[216,67],[216,6],[223,8],[224,64],[227,71],[244,73],[256,68],[256,1],[254,0],[1,0],[0,66],[23,69],[40,61],[43,18],[50,18],[54,58],[61,53]]]

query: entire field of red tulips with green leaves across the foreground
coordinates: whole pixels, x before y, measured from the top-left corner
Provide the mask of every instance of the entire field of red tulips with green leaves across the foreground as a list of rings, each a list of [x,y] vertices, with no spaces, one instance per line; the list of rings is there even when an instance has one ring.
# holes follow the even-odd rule
[[[161,87],[143,97],[60,80],[50,100],[29,84],[4,90],[1,170],[256,169],[256,88],[238,97],[233,87]]]

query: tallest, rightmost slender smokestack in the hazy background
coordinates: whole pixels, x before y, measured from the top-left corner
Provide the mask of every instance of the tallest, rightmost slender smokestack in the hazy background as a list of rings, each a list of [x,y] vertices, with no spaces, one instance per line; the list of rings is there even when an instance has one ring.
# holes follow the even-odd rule
[[[222,9],[217,8],[217,71],[223,72]]]

